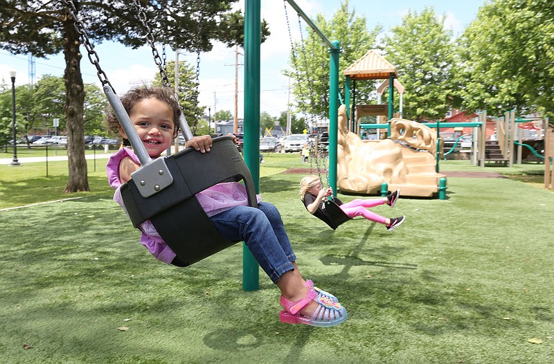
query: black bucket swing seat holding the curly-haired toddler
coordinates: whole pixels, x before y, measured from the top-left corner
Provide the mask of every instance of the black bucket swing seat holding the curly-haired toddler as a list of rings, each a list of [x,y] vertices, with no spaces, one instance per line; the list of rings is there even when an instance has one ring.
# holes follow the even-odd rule
[[[258,207],[250,170],[233,138],[214,138],[210,152],[201,153],[188,147],[165,161],[173,181],[163,190],[143,197],[133,179],[121,187],[133,226],[150,219],[177,255],[172,263],[176,266],[189,266],[237,243],[222,237],[195,198],[195,194],[217,183],[242,180],[249,206]]]

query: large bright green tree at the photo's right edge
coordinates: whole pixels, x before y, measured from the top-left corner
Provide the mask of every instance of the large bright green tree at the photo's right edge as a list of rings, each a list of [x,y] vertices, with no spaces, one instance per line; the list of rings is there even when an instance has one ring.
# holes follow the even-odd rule
[[[539,111],[554,118],[554,2],[495,0],[461,37],[458,102],[502,115]]]

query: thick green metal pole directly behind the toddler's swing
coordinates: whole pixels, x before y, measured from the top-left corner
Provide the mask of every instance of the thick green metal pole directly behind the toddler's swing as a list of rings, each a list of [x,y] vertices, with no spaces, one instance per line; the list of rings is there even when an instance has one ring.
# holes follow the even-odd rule
[[[260,0],[244,3],[244,161],[260,192]],[[242,289],[260,288],[258,262],[242,243]]]

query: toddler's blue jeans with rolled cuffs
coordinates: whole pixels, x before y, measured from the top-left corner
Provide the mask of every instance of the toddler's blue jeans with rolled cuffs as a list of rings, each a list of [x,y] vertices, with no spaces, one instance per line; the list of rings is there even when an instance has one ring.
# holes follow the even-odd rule
[[[272,282],[294,269],[296,256],[281,215],[272,203],[260,202],[258,208],[237,206],[210,219],[225,239],[247,244]]]

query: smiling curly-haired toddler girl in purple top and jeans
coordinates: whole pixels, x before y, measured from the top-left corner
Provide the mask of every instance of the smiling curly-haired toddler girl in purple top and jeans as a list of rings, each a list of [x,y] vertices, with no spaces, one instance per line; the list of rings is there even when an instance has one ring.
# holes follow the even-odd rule
[[[181,109],[169,88],[132,89],[121,98],[123,107],[139,134],[148,155],[157,158],[168,149],[177,136]],[[114,112],[109,109],[107,122],[124,142],[127,135]],[[211,136],[195,136],[186,142],[206,153],[212,146]],[[224,163],[224,162],[223,162]],[[114,200],[123,208],[120,185],[129,181],[139,169],[139,158],[124,147],[109,158],[107,173],[111,187],[116,188]],[[215,197],[215,198],[214,198]],[[220,183],[196,195],[201,206],[225,239],[248,246],[256,261],[280,289],[280,320],[287,323],[329,327],[346,320],[346,309],[334,295],[321,291],[311,280],[304,280],[296,265],[296,256],[277,208],[261,202],[258,208],[248,206],[244,185],[237,182]],[[176,255],[163,242],[150,221],[140,226],[141,244],[158,260],[171,264]]]

